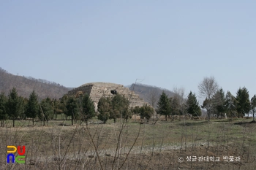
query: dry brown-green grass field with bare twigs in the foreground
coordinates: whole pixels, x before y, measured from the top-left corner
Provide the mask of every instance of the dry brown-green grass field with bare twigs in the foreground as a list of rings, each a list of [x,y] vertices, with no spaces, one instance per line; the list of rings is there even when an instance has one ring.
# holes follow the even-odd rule
[[[256,166],[252,119],[97,121],[86,126],[52,120],[33,127],[29,120],[17,120],[15,128],[7,121],[0,128],[0,169],[249,170]],[[7,163],[7,145],[25,145],[26,163]],[[189,161],[189,157],[197,159]]]

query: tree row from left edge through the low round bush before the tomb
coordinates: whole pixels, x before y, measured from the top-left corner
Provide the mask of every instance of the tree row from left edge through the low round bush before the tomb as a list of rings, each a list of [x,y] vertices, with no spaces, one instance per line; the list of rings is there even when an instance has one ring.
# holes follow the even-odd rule
[[[57,119],[57,115],[64,114],[65,118],[71,117],[72,125],[77,120],[82,120],[88,123],[92,117],[96,116],[103,123],[107,120],[113,119],[114,123],[118,118],[128,120],[132,114],[138,114],[141,117],[149,119],[154,114],[154,109],[149,106],[143,107],[129,107],[129,100],[120,94],[113,96],[113,98],[102,97],[98,103],[98,112],[95,111],[94,102],[88,94],[79,96],[78,98],[72,96],[63,96],[60,100],[45,98],[39,101],[37,93],[34,91],[29,98],[18,96],[17,90],[12,88],[8,96],[4,93],[0,95],[0,120],[1,125],[4,125],[4,120],[13,120],[13,127],[15,120],[31,118],[34,125],[34,119],[42,120],[43,125],[45,121]]]

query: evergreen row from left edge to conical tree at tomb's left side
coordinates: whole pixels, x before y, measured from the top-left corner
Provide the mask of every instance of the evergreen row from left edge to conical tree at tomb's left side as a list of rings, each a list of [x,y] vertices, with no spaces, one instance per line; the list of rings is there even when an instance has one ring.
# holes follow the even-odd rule
[[[73,98],[71,96],[63,96],[60,100],[44,98],[39,101],[37,93],[34,91],[29,98],[18,96],[17,90],[12,88],[8,96],[4,93],[0,94],[0,120],[1,126],[4,125],[4,120],[13,120],[13,127],[15,120],[31,118],[33,125],[34,119],[42,120],[43,125],[45,121],[57,118],[57,115],[64,113],[66,118],[72,117],[73,120],[87,121],[95,116],[94,104],[88,95],[80,98]]]

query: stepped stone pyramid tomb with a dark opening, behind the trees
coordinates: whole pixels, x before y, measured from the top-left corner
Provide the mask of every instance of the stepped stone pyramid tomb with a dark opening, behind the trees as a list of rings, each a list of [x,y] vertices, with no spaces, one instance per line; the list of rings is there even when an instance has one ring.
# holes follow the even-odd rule
[[[102,98],[102,96],[113,97],[114,94],[111,93],[111,90],[116,90],[117,93],[124,95],[126,98],[128,98],[130,102],[130,107],[142,107],[144,104],[148,104],[144,101],[143,98],[140,98],[138,94],[132,92],[131,90],[129,90],[129,88],[125,88],[124,85],[118,85],[108,82],[86,83],[78,88],[70,90],[67,95],[78,97],[87,93],[91,97],[91,100],[94,101],[94,105],[97,106],[99,99]]]

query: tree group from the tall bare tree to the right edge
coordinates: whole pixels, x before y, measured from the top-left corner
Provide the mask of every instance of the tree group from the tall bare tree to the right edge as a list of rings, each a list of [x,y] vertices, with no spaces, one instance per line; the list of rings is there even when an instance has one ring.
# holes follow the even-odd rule
[[[208,120],[211,115],[223,117],[226,113],[229,117],[244,117],[252,112],[255,120],[256,96],[249,98],[249,91],[239,88],[236,97],[230,91],[226,95],[222,88],[219,88],[214,77],[205,77],[198,85],[200,96],[204,97],[203,108],[206,109]]]

